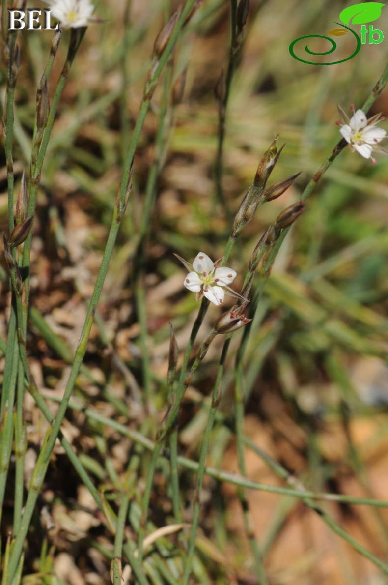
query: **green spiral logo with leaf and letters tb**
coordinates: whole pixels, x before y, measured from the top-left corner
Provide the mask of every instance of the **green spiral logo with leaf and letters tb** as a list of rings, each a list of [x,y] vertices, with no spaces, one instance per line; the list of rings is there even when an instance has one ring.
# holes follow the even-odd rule
[[[379,16],[381,15],[381,11],[382,11],[383,6],[384,6],[384,4],[380,4],[378,2],[362,2],[362,4],[354,4],[353,6],[348,6],[348,8],[345,8],[339,14],[339,19],[342,22],[334,22],[333,21],[335,25],[339,25],[341,28],[338,28],[338,29],[336,28],[336,29],[330,30],[327,33],[328,35],[342,36],[342,35],[347,35],[347,33],[349,32],[355,38],[356,47],[355,47],[353,53],[349,57],[345,57],[345,59],[341,59],[341,60],[337,60],[337,61],[330,61],[330,63],[316,63],[316,61],[308,61],[306,59],[301,59],[300,57],[298,57],[295,54],[294,47],[295,47],[296,43],[299,43],[299,41],[302,41],[304,39],[325,39],[325,40],[328,40],[328,42],[330,42],[330,44],[331,44],[330,49],[328,49],[327,51],[322,51],[322,52],[313,51],[313,50],[309,49],[309,45],[306,44],[306,46],[304,47],[304,50],[306,51],[306,53],[309,53],[309,55],[323,56],[323,55],[329,55],[331,53],[334,53],[335,49],[337,49],[337,43],[335,42],[334,39],[331,39],[330,37],[324,36],[324,35],[305,35],[305,36],[299,37],[298,39],[293,40],[293,42],[289,46],[290,55],[294,59],[296,59],[297,61],[300,61],[301,63],[306,63],[307,65],[336,65],[338,63],[344,63],[344,61],[349,61],[349,59],[352,59],[358,53],[358,51],[361,49],[361,45],[366,43],[367,37],[368,37],[369,44],[379,44],[382,42],[383,37],[384,37],[382,31],[379,29],[373,29],[373,25],[369,25],[369,29],[367,29],[365,26],[365,23],[367,23],[367,22],[369,23],[369,22],[373,22],[374,20],[377,20],[377,18],[379,18]],[[352,30],[351,28],[346,26],[349,24],[352,24],[352,25],[362,24],[362,27],[360,30],[361,39],[354,32],[354,30]],[[376,35],[377,35],[377,38],[376,38]]]

